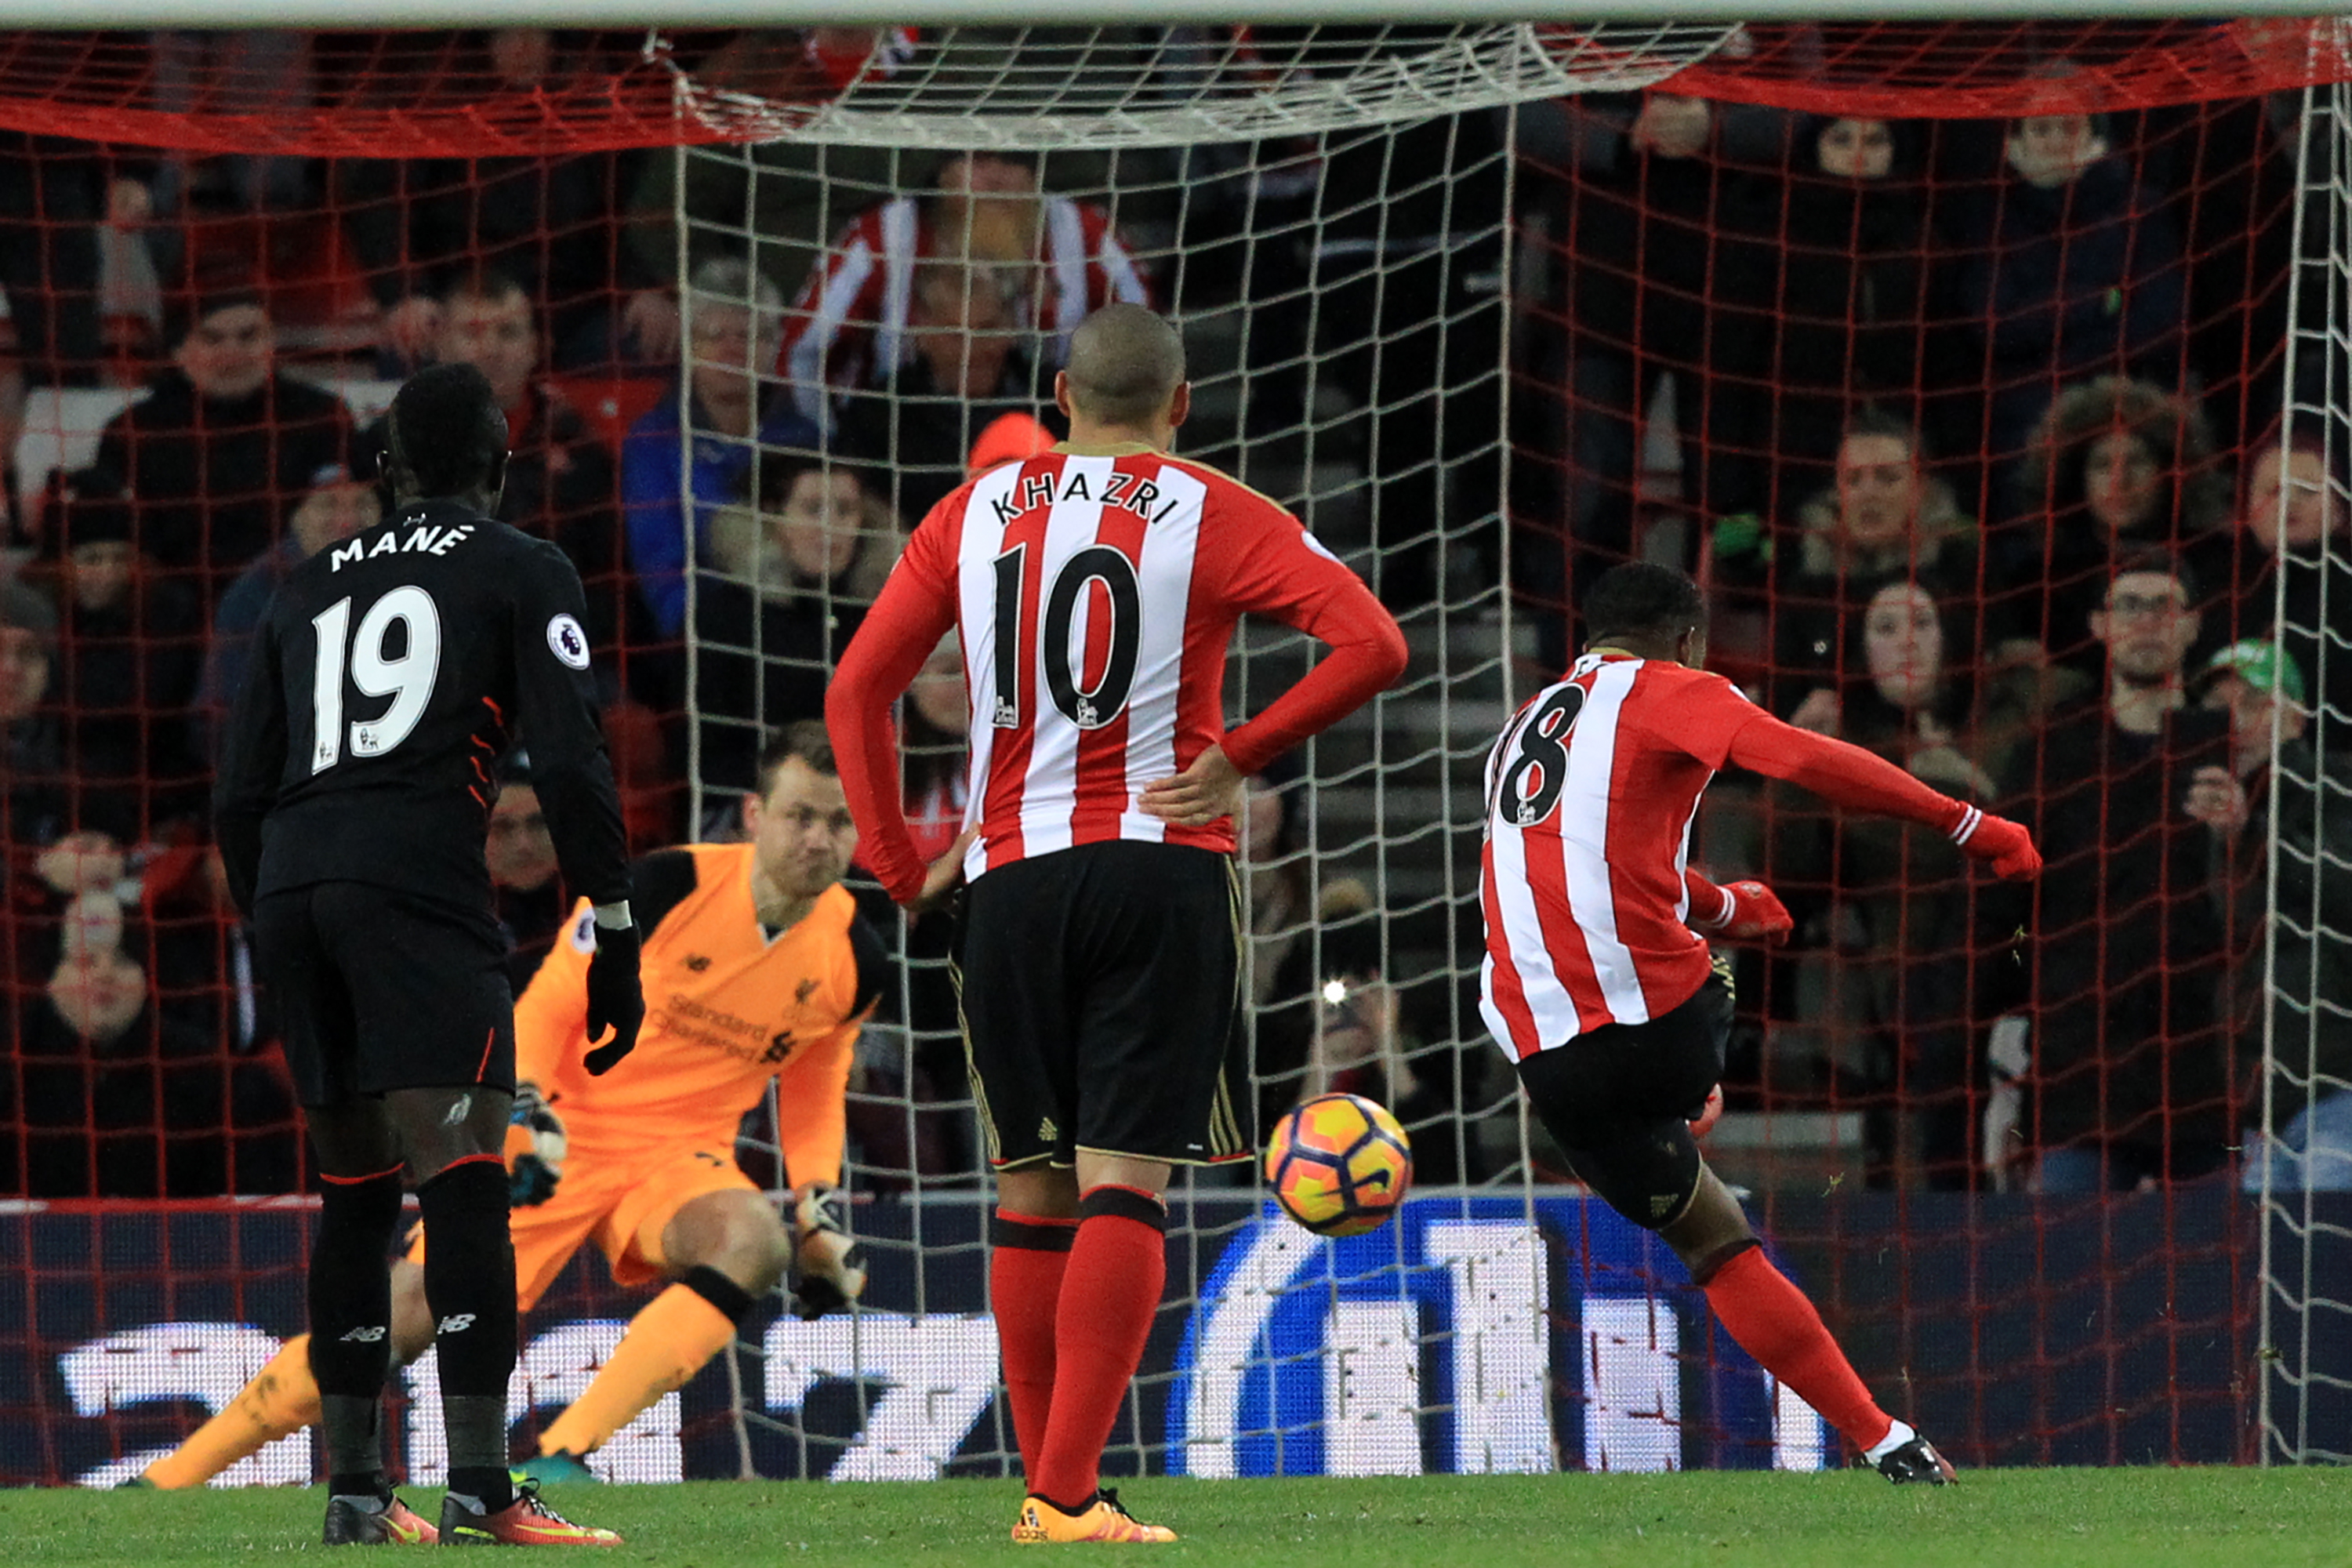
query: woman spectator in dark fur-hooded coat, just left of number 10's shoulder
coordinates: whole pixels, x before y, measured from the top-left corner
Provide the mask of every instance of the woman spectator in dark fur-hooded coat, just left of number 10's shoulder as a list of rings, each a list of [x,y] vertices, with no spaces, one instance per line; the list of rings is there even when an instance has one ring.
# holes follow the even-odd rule
[[[771,456],[755,505],[710,520],[699,583],[694,715],[701,778],[755,788],[760,736],[826,712],[826,679],[898,559],[896,517],[866,477],[823,456]]]

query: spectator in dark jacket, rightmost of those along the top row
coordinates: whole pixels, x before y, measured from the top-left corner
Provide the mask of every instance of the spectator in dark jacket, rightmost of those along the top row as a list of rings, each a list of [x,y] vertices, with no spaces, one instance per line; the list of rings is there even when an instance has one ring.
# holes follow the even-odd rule
[[[2063,71],[2063,68],[2060,68]],[[2049,113],[2009,125],[2004,174],[1952,233],[1980,235],[1955,280],[1971,362],[1990,383],[1985,454],[2006,463],[2065,381],[2143,374],[2180,383],[2187,280],[2180,223],[2077,108],[2065,75]]]

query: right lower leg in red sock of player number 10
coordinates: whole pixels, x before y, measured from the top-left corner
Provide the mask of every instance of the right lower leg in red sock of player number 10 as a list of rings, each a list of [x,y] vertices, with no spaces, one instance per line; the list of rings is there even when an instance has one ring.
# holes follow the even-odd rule
[[[1089,1187],[1054,1314],[1054,1408],[1030,1493],[1065,1509],[1094,1505],[1103,1443],[1167,1288],[1167,1204],[1138,1187]]]

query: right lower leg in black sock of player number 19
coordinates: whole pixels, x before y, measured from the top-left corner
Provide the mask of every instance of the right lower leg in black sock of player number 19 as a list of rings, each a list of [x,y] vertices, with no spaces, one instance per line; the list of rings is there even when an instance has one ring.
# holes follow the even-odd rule
[[[515,1371],[515,1246],[506,1232],[506,1161],[459,1159],[421,1187],[426,1305],[440,1349],[449,1490],[485,1512],[513,1502],[506,1385]]]

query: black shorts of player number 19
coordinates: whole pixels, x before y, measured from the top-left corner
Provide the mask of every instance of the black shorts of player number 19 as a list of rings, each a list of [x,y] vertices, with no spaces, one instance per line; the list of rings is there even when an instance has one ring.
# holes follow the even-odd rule
[[[318,882],[254,905],[254,961],[303,1105],[515,1088],[515,992],[487,912]]]

